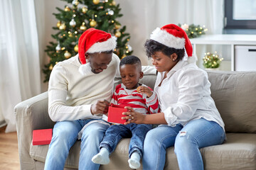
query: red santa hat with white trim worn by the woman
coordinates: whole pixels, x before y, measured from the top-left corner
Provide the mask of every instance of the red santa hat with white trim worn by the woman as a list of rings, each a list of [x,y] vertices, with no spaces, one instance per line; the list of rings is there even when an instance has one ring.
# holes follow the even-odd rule
[[[156,28],[150,35],[151,40],[155,40],[167,47],[173,47],[176,49],[183,49],[185,47],[188,55],[188,62],[196,62],[196,56],[193,55],[193,47],[186,32],[176,26],[175,24],[169,24],[162,28]]]

